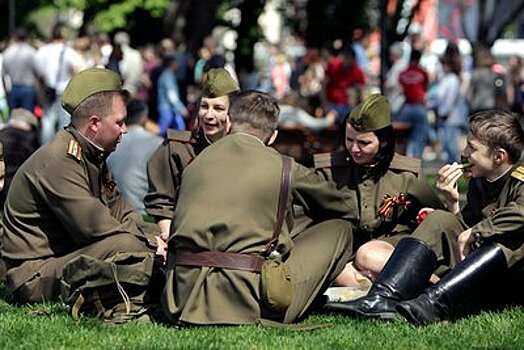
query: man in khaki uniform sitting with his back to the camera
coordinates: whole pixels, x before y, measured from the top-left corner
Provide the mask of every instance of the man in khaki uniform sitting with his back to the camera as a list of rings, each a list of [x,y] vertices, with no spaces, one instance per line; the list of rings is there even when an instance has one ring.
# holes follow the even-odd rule
[[[239,93],[230,107],[231,135],[184,170],[162,296],[172,322],[293,322],[305,315],[351,255],[352,223],[341,218],[356,219],[356,208],[345,192],[293,160],[284,225],[275,250],[264,254],[278,222],[283,157],[268,147],[277,135],[278,113],[269,95]],[[293,205],[304,208],[316,224],[291,235]],[[206,257],[212,261],[199,263]],[[275,311],[263,302],[266,289],[256,268],[263,257],[281,258],[290,270],[293,292],[287,309]]]

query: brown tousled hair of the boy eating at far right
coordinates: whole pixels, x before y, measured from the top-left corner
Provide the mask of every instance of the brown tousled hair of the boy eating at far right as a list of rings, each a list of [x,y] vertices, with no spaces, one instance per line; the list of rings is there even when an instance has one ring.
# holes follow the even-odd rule
[[[524,131],[514,114],[502,110],[484,110],[469,117],[469,130],[494,152],[503,148],[512,164],[517,163],[524,148]]]

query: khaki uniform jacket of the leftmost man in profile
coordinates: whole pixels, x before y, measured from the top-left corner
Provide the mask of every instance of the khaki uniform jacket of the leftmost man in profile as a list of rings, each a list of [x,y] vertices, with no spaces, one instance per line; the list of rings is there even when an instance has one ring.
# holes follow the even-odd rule
[[[105,158],[105,152],[68,127],[22,164],[5,204],[3,258],[20,265],[66,255],[120,233],[155,245],[150,234],[156,225],[143,223],[123,199]],[[23,266],[18,270],[10,288],[23,284],[34,271]]]

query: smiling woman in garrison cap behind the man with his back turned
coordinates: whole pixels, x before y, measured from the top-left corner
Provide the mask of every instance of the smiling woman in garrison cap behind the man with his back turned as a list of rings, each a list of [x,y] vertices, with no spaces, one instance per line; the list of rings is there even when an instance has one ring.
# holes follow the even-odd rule
[[[144,204],[160,226],[163,238],[169,235],[182,170],[204,148],[229,132],[229,100],[238,91],[238,82],[227,70],[210,69],[202,87],[196,128],[193,131],[168,130],[165,142],[150,158],[147,166],[149,192]]]

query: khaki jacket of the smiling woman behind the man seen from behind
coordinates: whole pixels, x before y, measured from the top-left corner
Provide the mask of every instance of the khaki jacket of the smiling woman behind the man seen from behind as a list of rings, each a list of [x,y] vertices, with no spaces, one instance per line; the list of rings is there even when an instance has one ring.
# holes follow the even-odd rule
[[[149,191],[144,205],[149,215],[157,220],[173,218],[182,170],[208,145],[200,129],[167,131],[166,141],[147,162]]]

